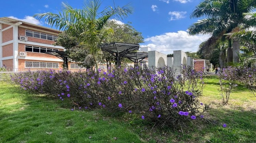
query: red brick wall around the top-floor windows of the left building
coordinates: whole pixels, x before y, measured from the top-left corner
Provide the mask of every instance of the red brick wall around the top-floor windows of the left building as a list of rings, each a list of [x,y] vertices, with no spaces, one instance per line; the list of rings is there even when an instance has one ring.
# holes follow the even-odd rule
[[[19,37],[20,36],[26,36],[26,33],[25,33],[26,30],[31,30],[31,29],[26,29],[26,28],[23,28],[23,27],[18,27]],[[31,31],[41,32],[41,31],[36,31],[36,30],[31,30]],[[46,33],[46,32],[41,32],[41,33],[50,34],[50,33]],[[54,34],[50,34],[50,35],[54,35]],[[58,36],[58,34],[56,33],[54,36]],[[51,41],[51,40],[34,38],[34,37],[27,37],[27,41],[36,42],[36,43],[43,43],[43,44],[49,44],[49,45],[52,45],[53,43],[55,43],[54,41]]]

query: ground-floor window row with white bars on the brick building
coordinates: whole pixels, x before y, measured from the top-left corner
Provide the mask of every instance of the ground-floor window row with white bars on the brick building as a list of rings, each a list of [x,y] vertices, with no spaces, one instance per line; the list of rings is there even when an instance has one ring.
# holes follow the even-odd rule
[[[25,68],[59,68],[59,63],[25,61]]]

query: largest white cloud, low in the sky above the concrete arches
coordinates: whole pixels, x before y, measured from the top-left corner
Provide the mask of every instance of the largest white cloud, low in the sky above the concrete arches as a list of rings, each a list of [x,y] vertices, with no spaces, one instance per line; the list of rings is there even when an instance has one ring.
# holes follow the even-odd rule
[[[190,36],[186,31],[169,32],[146,38],[145,45],[141,45],[141,47],[151,47],[151,50],[164,54],[173,53],[173,50],[195,52],[198,46],[209,37],[210,35]]]

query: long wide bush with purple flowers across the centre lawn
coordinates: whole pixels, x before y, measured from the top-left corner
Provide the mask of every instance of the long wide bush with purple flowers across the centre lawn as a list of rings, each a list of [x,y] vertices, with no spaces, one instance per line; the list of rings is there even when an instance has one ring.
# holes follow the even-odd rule
[[[202,72],[183,65],[180,74],[175,73],[170,67],[43,70],[15,74],[11,82],[24,90],[70,99],[78,109],[135,113],[157,125],[177,126],[203,118],[209,106],[199,101],[204,87]]]

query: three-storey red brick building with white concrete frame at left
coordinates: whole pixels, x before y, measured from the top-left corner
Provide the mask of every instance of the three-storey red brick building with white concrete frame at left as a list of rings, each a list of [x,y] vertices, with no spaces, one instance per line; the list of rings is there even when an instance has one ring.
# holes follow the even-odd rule
[[[53,46],[61,31],[32,23],[0,18],[0,67],[10,71],[39,69],[60,69],[63,61],[47,51],[63,51],[61,46]],[[69,62],[69,69],[80,68]]]

